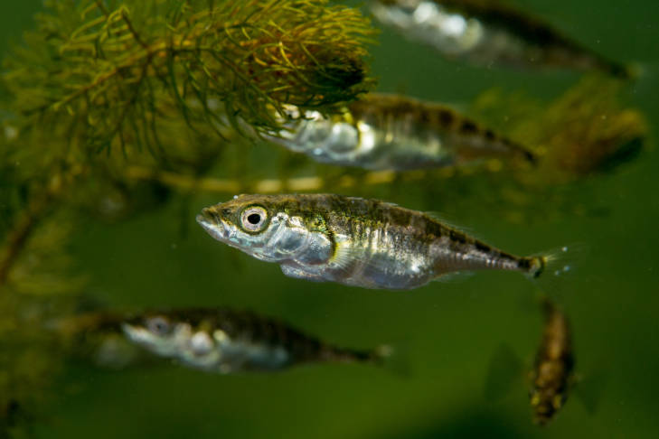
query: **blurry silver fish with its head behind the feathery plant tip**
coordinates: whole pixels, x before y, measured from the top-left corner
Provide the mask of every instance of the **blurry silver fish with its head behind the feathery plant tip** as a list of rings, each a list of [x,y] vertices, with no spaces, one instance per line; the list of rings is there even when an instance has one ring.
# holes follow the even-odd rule
[[[268,138],[317,162],[407,171],[487,158],[535,161],[503,135],[435,103],[372,93],[334,115],[287,106],[278,135]]]

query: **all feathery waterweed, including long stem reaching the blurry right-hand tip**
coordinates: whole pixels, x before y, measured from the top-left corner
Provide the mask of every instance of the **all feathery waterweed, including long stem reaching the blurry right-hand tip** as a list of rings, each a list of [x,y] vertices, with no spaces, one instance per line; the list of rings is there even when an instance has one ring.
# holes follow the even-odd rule
[[[61,368],[61,345],[41,323],[78,308],[84,276],[67,243],[86,220],[125,220],[174,191],[368,196],[400,182],[445,203],[485,190],[481,202],[519,221],[535,194],[606,171],[645,142],[644,117],[618,102],[619,84],[585,78],[549,105],[497,91],[475,103],[476,118],[540,155],[536,168],[316,164],[260,134],[282,128],[286,104],[329,113],[373,89],[375,32],[359,11],[326,0],[46,5],[0,81],[0,437]],[[255,145],[282,157],[266,178],[247,165]]]

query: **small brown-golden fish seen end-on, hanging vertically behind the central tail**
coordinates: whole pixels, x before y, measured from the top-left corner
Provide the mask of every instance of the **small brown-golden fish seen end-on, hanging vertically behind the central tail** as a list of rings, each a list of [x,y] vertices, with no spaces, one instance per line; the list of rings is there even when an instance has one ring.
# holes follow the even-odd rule
[[[542,341],[530,373],[533,420],[539,425],[550,422],[565,404],[575,363],[568,318],[549,299],[542,309]]]

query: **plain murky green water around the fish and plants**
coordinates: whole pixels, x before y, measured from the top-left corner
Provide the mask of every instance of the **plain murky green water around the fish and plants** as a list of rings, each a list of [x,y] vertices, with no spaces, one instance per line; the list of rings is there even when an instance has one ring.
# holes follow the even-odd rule
[[[521,3],[521,2],[520,2]],[[38,1],[0,4],[0,51],[19,41]],[[650,0],[533,0],[523,7],[607,56],[639,61],[645,77],[626,96],[659,126],[659,4]],[[447,62],[384,32],[372,49],[379,89],[468,104],[493,86],[552,98],[569,72],[532,74]],[[258,163],[252,163],[258,164]],[[283,276],[221,246],[193,222],[228,199],[197,194],[182,237],[180,202],[115,225],[77,230],[77,268],[109,306],[231,305],[278,316],[338,344],[404,347],[407,375],[363,365],[323,365],[271,375],[216,376],[174,366],[108,371],[71,365],[35,425],[43,438],[94,437],[659,437],[659,154],[575,185],[568,196],[603,211],[523,226],[473,202],[447,205],[412,191],[390,201],[441,210],[499,248],[532,253],[580,242],[588,253],[560,300],[574,330],[577,369],[605,375],[593,414],[574,395],[548,428],[532,425],[526,387],[497,403],[483,396],[502,343],[531,364],[541,318],[522,276],[478,273],[400,293],[313,284]],[[359,191],[345,191],[359,194]],[[389,194],[389,195],[388,195]],[[479,197],[488,197],[482,193]]]

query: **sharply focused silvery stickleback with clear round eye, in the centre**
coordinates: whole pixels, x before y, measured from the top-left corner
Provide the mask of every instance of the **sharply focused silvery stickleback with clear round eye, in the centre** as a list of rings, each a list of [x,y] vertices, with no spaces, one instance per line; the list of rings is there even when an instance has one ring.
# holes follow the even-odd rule
[[[332,194],[240,195],[197,222],[287,276],[365,288],[411,289],[478,269],[537,277],[551,259],[504,253],[419,211]]]

